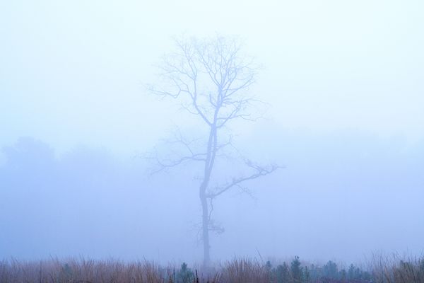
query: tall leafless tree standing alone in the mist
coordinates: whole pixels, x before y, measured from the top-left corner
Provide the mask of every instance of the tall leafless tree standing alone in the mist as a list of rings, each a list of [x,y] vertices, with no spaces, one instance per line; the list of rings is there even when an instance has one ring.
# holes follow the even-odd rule
[[[175,42],[177,51],[167,54],[160,65],[161,87],[148,88],[159,96],[179,100],[182,109],[201,119],[208,134],[204,137],[204,144],[199,146],[198,139],[185,139],[178,133],[171,142],[183,146],[187,154],[177,158],[160,158],[155,154],[150,158],[157,161],[157,171],[188,161],[202,164],[199,198],[204,265],[207,267],[211,258],[209,232],[221,230],[211,219],[213,200],[233,188],[246,191],[243,185],[247,181],[268,175],[279,167],[273,164],[259,166],[239,156],[239,160],[249,169],[247,175],[230,178],[220,185],[211,182],[217,158],[228,157],[224,149],[232,146],[232,136],[224,129],[235,120],[254,121],[258,118],[252,113],[252,106],[260,101],[247,92],[255,81],[257,67],[252,59],[242,56],[240,42],[235,38],[217,36],[206,40],[190,38]]]

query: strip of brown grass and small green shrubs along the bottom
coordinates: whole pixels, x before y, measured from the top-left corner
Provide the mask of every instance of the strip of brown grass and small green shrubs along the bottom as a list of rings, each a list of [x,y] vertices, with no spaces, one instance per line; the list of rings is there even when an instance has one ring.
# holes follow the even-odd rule
[[[238,259],[205,270],[183,263],[179,267],[153,262],[117,260],[42,260],[0,262],[0,282],[128,282],[128,283],[424,283],[424,258],[374,257],[367,269],[335,262],[313,265],[295,257],[291,262]]]

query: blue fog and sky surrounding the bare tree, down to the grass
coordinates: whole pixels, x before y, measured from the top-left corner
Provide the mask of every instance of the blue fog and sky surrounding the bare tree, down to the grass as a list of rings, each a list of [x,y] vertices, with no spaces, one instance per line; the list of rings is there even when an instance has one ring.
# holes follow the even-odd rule
[[[236,36],[261,119],[225,129],[282,168],[213,203],[211,260],[424,252],[421,1],[4,1],[0,259],[201,262],[199,163],[152,174],[201,119],[148,91],[175,38]],[[205,134],[206,133],[206,134]],[[205,136],[206,135],[206,136]],[[214,177],[245,174],[223,159]],[[156,166],[156,167],[155,167]],[[211,231],[212,232],[212,231]]]

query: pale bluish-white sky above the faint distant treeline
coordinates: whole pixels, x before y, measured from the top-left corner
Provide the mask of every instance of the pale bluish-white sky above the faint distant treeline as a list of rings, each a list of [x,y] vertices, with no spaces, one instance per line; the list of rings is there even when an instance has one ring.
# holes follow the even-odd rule
[[[132,153],[179,117],[143,83],[172,36],[238,35],[281,127],[424,137],[422,1],[3,1],[0,145]],[[183,120],[182,123],[190,123]],[[123,151],[124,149],[124,151]]]

